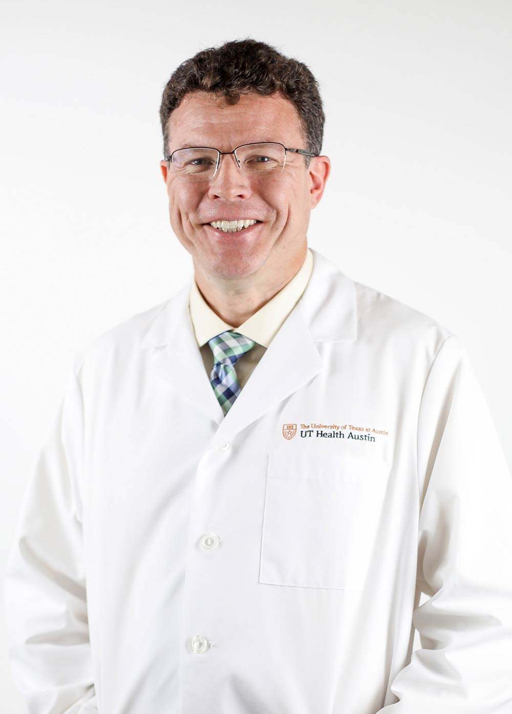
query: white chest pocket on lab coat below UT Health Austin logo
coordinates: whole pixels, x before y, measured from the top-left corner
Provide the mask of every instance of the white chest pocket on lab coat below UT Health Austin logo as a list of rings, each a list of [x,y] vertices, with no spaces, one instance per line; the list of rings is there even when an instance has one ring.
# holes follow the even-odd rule
[[[389,468],[325,448],[271,453],[259,582],[362,590]]]

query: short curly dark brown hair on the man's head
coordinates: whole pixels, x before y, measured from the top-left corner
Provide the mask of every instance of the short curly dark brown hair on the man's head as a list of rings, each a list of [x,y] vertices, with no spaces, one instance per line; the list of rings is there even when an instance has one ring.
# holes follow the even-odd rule
[[[306,144],[301,148],[316,155],[321,153],[325,115],[318,82],[305,64],[284,56],[275,47],[247,37],[201,50],[182,62],[162,94],[164,156],[169,149],[169,116],[186,94],[196,90],[224,96],[230,105],[236,104],[241,94],[268,96],[279,92],[298,112]],[[308,166],[310,158],[303,159]]]

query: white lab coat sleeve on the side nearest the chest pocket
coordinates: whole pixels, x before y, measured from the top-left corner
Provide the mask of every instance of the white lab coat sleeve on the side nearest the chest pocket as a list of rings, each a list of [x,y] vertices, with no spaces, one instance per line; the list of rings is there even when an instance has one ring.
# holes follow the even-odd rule
[[[456,335],[426,381],[417,445],[421,648],[377,714],[511,714],[512,479]]]

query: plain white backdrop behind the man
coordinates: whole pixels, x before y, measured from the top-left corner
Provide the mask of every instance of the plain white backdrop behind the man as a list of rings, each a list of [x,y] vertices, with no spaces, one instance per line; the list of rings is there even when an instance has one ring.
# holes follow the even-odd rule
[[[0,8],[2,572],[74,354],[192,271],[169,226],[159,104],[181,61],[229,39],[313,71],[332,171],[309,245],[461,338],[512,468],[508,0]],[[25,712],[3,618],[0,690],[2,711]]]

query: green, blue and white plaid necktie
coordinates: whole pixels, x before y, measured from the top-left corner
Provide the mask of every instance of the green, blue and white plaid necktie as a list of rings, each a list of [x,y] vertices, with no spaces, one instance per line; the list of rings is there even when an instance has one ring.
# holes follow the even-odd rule
[[[249,352],[256,342],[239,332],[226,330],[212,337],[208,343],[214,353],[214,368],[210,372],[211,386],[222,411],[227,414],[240,393],[235,363],[243,354]]]

